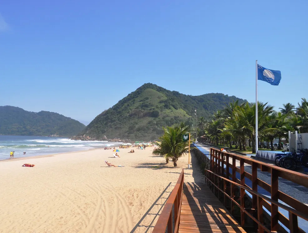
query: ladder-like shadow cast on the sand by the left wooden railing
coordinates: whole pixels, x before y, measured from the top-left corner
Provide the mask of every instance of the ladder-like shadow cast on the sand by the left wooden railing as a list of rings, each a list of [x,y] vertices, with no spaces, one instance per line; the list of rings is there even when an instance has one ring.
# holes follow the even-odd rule
[[[160,216],[160,212],[162,211],[163,207],[165,206],[165,203],[173,189],[174,185],[172,185],[172,182],[170,182],[167,187],[162,191],[162,193],[157,197],[157,199],[153,202],[151,207],[146,211],[146,213],[141,217],[141,219],[138,221],[138,223],[134,226],[134,228],[131,230],[130,233],[135,232],[138,228],[144,227],[144,233],[148,232],[151,228],[154,228],[154,221],[158,219],[158,216]],[[169,190],[169,191],[167,191]],[[162,203],[159,203],[162,202]],[[160,206],[158,210],[154,210],[155,206]],[[154,217],[153,217],[154,215]],[[151,216],[151,222],[146,222],[146,217]]]

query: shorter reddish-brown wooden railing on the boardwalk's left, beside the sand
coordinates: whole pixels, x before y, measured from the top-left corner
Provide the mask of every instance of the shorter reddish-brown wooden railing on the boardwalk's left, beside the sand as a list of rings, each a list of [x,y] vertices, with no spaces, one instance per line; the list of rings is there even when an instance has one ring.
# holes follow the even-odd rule
[[[157,223],[153,229],[153,233],[173,233],[178,232],[180,224],[180,213],[182,206],[182,194],[183,194],[183,184],[184,184],[184,169],[177,180],[167,202],[160,214]],[[173,226],[174,223],[174,226]]]

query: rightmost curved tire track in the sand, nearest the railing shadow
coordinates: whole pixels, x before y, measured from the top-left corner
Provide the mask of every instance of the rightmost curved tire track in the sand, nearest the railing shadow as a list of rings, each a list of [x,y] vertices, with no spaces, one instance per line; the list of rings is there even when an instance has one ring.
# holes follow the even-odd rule
[[[108,183],[108,185],[106,186],[105,183]],[[99,184],[98,182],[96,182],[96,184],[98,186],[102,186],[106,190],[109,190],[116,197],[115,208],[119,209],[121,207],[121,209],[124,210],[124,216],[123,217],[125,218],[125,222],[124,222],[123,226],[127,226],[128,230],[130,231],[133,228],[133,226],[132,226],[133,218],[132,218],[132,215],[131,215],[131,211],[129,210],[129,208],[126,204],[126,200],[121,195],[119,195],[117,193],[117,190],[110,184],[110,182],[104,181],[103,184]],[[119,203],[120,203],[120,206],[119,206]],[[119,212],[119,211],[117,211],[117,212]],[[118,214],[115,215],[115,216],[118,216]],[[115,219],[115,217],[114,217],[114,219]]]

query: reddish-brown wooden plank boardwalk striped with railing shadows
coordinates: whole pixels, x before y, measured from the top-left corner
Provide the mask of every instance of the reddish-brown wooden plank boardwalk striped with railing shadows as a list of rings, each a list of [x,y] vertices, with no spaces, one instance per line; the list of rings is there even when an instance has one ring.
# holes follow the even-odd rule
[[[185,182],[179,232],[245,232],[206,185]]]

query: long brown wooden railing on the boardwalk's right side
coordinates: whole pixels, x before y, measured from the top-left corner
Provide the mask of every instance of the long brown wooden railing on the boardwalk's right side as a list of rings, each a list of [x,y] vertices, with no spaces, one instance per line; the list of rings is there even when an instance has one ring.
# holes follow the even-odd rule
[[[232,158],[232,164],[229,163],[230,158]],[[239,168],[236,167],[237,160],[239,161]],[[251,173],[245,171],[244,163],[246,163],[246,165],[251,165]],[[229,171],[229,168],[232,168],[231,172]],[[271,184],[267,184],[258,178],[258,168],[261,171],[269,172]],[[282,227],[278,221],[288,228],[291,233],[305,232],[298,227],[297,218],[300,217],[308,221],[308,206],[280,191],[278,188],[278,178],[281,177],[285,180],[308,187],[307,175],[261,161],[256,161],[245,156],[222,152],[214,148],[210,149],[210,169],[206,169],[205,171],[208,186],[212,188],[213,192],[215,192],[215,188],[218,190],[218,197],[219,193],[223,194],[223,203],[226,207],[230,207],[231,214],[234,214],[235,206],[239,207],[241,226],[244,226],[245,224],[246,214],[258,225],[259,233],[264,231],[280,231]],[[236,172],[239,172],[240,179],[236,178]],[[248,178],[251,181],[251,187],[245,184],[245,178]],[[260,194],[258,192],[258,186],[268,191],[270,198]],[[239,189],[239,196],[235,196],[235,192],[238,190],[237,188]],[[249,192],[252,196],[251,208],[245,206],[245,191]],[[228,199],[231,200],[231,206],[227,206]],[[288,206],[279,203],[278,200],[283,201]],[[270,212],[270,229],[264,224],[263,207]],[[280,213],[278,207],[288,211],[289,218]]]

